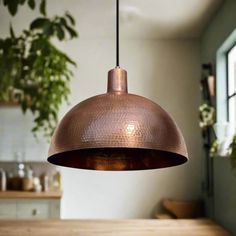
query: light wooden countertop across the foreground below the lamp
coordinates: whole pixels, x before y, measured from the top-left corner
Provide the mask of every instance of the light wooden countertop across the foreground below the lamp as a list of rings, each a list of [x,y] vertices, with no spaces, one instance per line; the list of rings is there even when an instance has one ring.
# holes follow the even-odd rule
[[[229,236],[198,220],[0,220],[4,236]]]

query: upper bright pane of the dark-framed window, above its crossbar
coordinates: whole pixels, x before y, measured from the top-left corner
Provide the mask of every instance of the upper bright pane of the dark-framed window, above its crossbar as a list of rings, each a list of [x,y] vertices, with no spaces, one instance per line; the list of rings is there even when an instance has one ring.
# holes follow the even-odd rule
[[[236,46],[228,54],[228,95],[236,92]]]

